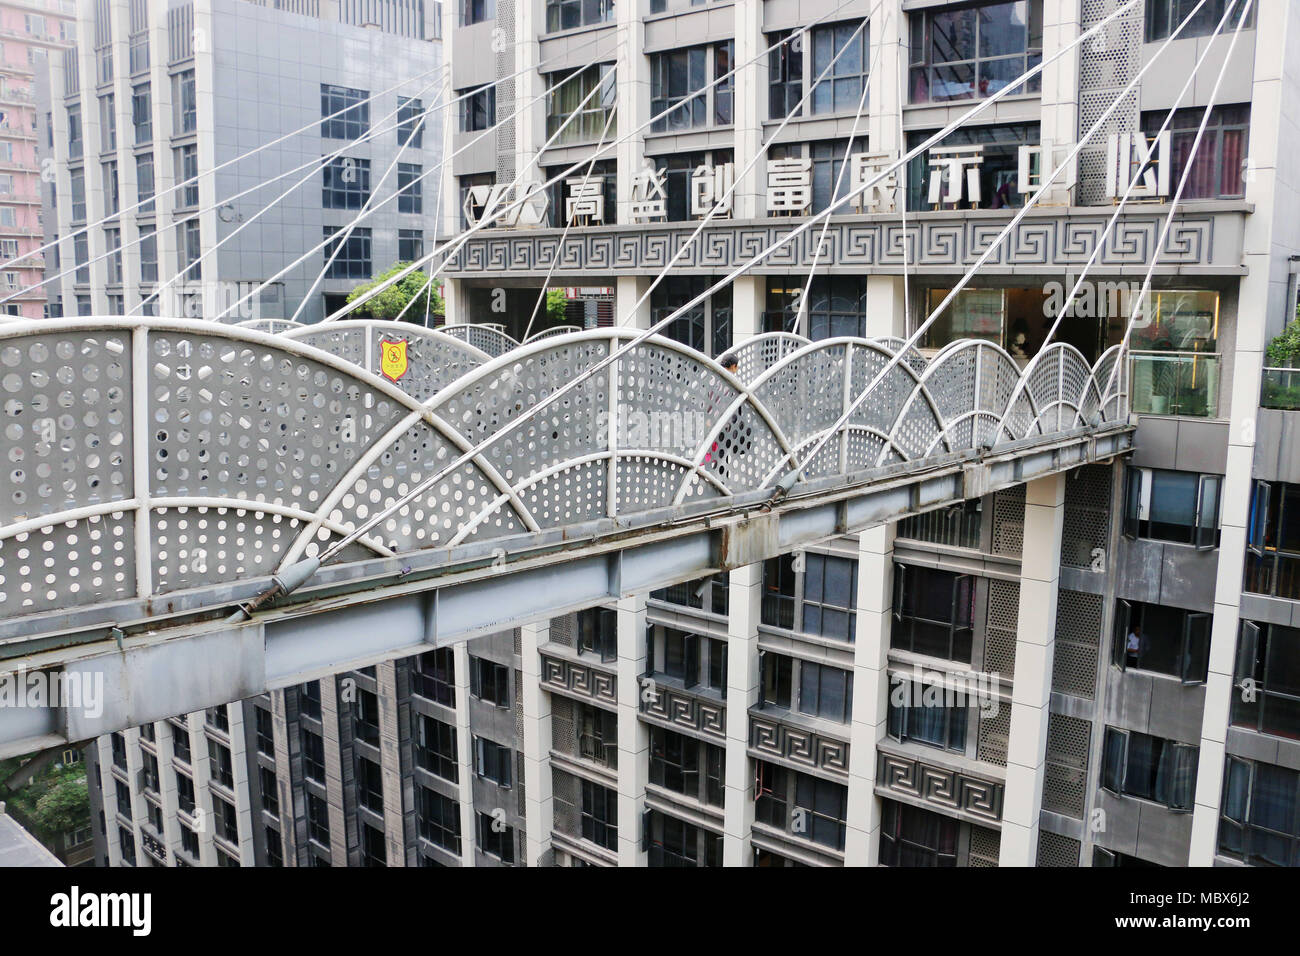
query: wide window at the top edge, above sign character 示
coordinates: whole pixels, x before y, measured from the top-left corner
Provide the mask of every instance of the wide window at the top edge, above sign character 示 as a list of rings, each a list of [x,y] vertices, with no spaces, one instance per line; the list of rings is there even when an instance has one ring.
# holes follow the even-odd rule
[[[909,29],[913,103],[992,96],[1043,60],[1043,0],[916,12]],[[1011,92],[1041,88],[1040,74]]]

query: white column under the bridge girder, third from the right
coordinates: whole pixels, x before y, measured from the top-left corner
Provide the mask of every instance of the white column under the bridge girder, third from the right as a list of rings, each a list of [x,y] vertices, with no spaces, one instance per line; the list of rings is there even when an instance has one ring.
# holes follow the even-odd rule
[[[727,618],[727,763],[724,770],[723,866],[750,866],[754,825],[754,771],[749,765],[749,709],[758,702],[758,622],[763,566],[731,572]]]

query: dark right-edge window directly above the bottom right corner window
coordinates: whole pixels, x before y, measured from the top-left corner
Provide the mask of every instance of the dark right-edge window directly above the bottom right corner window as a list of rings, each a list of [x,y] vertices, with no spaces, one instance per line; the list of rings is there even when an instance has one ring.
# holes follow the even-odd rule
[[[1232,724],[1300,740],[1300,630],[1243,620]]]

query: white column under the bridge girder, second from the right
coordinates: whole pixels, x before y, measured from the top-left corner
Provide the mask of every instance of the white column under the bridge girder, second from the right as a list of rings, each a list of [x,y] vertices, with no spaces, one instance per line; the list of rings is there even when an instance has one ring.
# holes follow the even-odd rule
[[[876,743],[889,715],[889,635],[893,627],[896,524],[858,536],[858,624],[853,646],[853,723],[849,730],[849,823],[845,866],[880,858]]]

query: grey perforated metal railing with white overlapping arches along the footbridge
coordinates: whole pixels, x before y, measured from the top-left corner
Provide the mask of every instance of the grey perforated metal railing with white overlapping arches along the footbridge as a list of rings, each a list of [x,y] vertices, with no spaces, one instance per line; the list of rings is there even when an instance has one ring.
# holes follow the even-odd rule
[[[269,574],[416,489],[341,559],[696,498],[724,506],[823,437],[803,477],[1050,436],[1098,423],[1097,375],[1113,367],[1112,354],[1089,368],[1061,347],[1022,381],[988,342],[890,365],[881,341],[760,336],[746,347],[766,367],[746,380],[653,337],[515,425],[634,336],[593,329],[488,358],[447,329],[369,321],[280,334],[166,319],[5,324],[0,617]],[[395,342],[400,355],[384,356]],[[1122,390],[1109,407],[1127,416]]]

